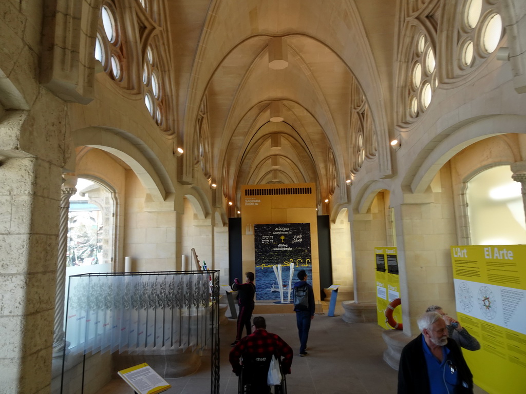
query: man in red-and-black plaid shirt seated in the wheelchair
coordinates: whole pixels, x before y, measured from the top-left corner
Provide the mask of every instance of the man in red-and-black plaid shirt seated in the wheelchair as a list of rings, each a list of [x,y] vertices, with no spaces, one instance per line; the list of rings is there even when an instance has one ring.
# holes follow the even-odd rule
[[[241,364],[239,359],[256,359],[276,355],[281,360],[281,371],[284,374],[290,374],[290,365],[292,364],[292,348],[281,339],[278,335],[269,333],[266,328],[265,318],[257,316],[254,318],[254,333],[247,335],[236,344],[230,351],[229,361],[232,365],[232,371],[239,376],[241,373]],[[265,380],[267,371],[265,371]]]

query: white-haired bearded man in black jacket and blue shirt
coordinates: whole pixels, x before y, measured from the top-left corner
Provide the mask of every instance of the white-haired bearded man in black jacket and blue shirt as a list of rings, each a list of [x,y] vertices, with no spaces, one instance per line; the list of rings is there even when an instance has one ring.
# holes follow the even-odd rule
[[[448,338],[437,312],[417,320],[421,334],[402,350],[398,394],[464,394],[473,392],[473,375],[460,347]]]

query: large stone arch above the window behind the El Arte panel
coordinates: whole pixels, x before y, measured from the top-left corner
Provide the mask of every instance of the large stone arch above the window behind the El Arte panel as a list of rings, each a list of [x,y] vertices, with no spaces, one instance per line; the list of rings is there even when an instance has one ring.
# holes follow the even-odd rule
[[[455,154],[474,142],[504,133],[526,133],[524,122],[523,116],[497,115],[471,120],[467,125],[466,122],[463,122],[444,130],[442,135],[449,135],[435,148],[428,151],[425,159],[418,163],[415,161],[411,165],[412,168],[418,168],[414,177],[408,180],[408,183],[411,185],[411,191],[413,193],[426,191],[442,166]],[[499,132],[496,132],[497,130]],[[505,132],[500,130],[505,130]]]

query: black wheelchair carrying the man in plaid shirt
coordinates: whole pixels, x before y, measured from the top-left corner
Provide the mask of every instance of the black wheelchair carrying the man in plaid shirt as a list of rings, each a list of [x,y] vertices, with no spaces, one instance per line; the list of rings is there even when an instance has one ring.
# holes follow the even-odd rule
[[[280,385],[267,385],[268,368],[271,358],[272,355],[254,359],[242,359],[241,374],[239,374],[238,378],[239,394],[270,394],[272,387],[274,387],[274,394],[287,394],[287,381],[283,371],[281,371],[283,379]]]

